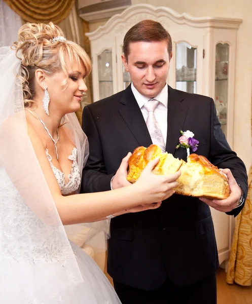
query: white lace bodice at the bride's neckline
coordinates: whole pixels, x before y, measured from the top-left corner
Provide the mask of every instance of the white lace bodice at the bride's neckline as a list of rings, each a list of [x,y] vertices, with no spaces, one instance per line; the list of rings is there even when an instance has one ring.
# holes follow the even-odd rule
[[[48,149],[46,149],[46,155],[49,160],[50,166],[53,170],[53,173],[59,183],[60,191],[63,195],[70,194],[75,192],[80,184],[81,184],[81,174],[79,170],[79,166],[77,163],[77,148],[74,147],[72,154],[68,157],[69,160],[73,161],[71,174],[69,174],[68,177],[68,183],[65,182],[65,175],[63,172],[61,172],[58,168],[56,168],[52,164],[52,157],[48,153]]]

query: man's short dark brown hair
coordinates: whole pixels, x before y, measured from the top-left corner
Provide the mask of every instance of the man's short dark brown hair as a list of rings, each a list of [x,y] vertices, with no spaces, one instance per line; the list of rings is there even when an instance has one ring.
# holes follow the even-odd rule
[[[136,23],[127,31],[123,41],[123,52],[127,61],[128,55],[130,53],[130,43],[138,41],[166,41],[169,58],[171,57],[171,36],[168,31],[163,27],[163,25],[157,21],[142,20]]]

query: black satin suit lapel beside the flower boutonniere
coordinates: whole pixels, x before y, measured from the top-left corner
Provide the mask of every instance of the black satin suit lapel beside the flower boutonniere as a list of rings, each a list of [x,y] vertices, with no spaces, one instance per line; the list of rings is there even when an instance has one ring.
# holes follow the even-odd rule
[[[183,101],[183,92],[168,86],[166,151],[171,154],[175,153],[178,139],[181,136],[179,130],[183,130],[187,116],[188,106]]]

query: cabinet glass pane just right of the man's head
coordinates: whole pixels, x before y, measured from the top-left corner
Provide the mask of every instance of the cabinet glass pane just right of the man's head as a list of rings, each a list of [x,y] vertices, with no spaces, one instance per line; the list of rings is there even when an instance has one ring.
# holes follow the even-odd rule
[[[196,93],[197,48],[187,42],[176,44],[176,89]]]

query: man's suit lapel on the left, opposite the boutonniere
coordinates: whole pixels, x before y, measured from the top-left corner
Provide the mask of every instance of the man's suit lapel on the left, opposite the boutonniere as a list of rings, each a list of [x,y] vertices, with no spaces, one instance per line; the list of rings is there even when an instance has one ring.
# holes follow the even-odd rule
[[[119,113],[137,140],[138,145],[148,147],[152,144],[151,136],[130,85],[124,91],[119,102]]]

